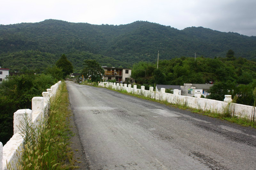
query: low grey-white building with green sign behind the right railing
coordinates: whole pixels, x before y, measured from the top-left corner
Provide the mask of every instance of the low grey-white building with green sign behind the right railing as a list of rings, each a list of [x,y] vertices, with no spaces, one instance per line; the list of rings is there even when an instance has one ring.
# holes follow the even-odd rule
[[[209,95],[207,92],[213,84],[185,84],[181,85],[181,95],[183,96],[191,96],[195,95],[195,92],[201,92],[201,95],[206,97]]]

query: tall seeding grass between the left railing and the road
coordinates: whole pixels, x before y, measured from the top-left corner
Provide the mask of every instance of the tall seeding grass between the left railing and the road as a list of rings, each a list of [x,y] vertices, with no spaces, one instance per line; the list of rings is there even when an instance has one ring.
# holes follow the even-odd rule
[[[69,129],[71,111],[68,108],[68,91],[65,82],[53,100],[49,114],[39,122],[37,128],[31,125],[26,115],[21,129],[25,143],[21,159],[15,168],[19,170],[62,170],[74,169],[73,152],[70,151],[69,137],[72,132]]]

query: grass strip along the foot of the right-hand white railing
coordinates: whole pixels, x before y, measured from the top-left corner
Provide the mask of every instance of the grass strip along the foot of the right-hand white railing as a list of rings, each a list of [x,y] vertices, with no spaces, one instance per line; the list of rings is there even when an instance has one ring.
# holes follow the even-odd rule
[[[89,84],[87,84],[87,85],[89,85]],[[256,128],[256,124],[255,124],[256,122],[251,121],[247,117],[232,116],[232,115],[230,115],[230,113],[220,114],[220,113],[211,112],[211,111],[203,111],[201,109],[195,109],[195,108],[188,107],[185,103],[183,103],[183,104],[180,104],[180,103],[172,104],[172,103],[169,103],[166,100],[156,100],[156,99],[152,99],[151,97],[148,97],[148,96],[143,96],[143,95],[140,95],[140,94],[132,94],[131,92],[127,92],[126,90],[115,90],[115,89],[112,89],[111,87],[108,87],[108,89],[116,91],[116,92],[120,92],[120,93],[123,93],[123,94],[126,94],[126,95],[138,97],[140,99],[150,100],[150,101],[153,101],[153,102],[158,102],[158,103],[164,104],[164,105],[169,106],[169,107],[176,107],[176,108],[183,109],[183,110],[189,110],[189,111],[191,111],[193,113],[196,113],[196,114],[207,115],[207,116],[210,116],[210,117],[213,117],[213,118],[226,120],[228,122],[236,123],[236,124],[239,124],[241,126]]]

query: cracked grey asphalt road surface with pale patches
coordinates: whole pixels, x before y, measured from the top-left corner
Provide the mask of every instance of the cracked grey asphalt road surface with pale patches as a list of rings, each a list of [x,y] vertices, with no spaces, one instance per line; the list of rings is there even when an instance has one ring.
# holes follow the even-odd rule
[[[106,88],[67,87],[84,169],[256,169],[255,129]]]

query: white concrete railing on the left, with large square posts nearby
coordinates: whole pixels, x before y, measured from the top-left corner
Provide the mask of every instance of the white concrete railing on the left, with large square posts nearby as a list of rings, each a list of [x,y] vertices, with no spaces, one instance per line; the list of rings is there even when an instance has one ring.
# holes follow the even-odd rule
[[[31,120],[35,126],[38,125],[39,120],[44,118],[44,114],[48,114],[50,106],[50,98],[56,95],[56,92],[61,84],[61,81],[52,85],[47,92],[43,92],[43,97],[33,97],[32,110],[20,109],[13,115],[13,136],[4,145],[0,142],[0,170],[7,170],[7,164],[11,164],[12,168],[16,167],[16,163],[19,160],[17,153],[22,150],[21,146],[24,143],[24,139],[21,136],[20,124],[24,120],[25,113],[28,115],[28,119]]]

